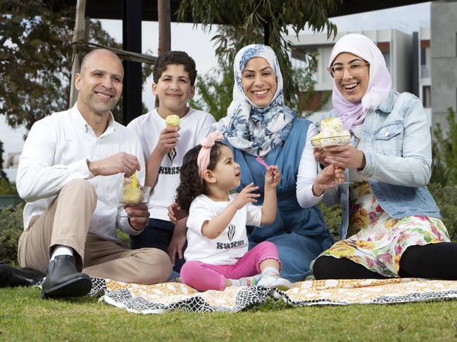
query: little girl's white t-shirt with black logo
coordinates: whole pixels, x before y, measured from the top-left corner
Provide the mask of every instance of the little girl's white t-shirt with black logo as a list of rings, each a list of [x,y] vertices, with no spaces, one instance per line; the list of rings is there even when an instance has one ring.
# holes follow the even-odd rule
[[[201,235],[201,226],[223,211],[237,194],[229,195],[229,202],[215,202],[205,195],[199,195],[192,201],[187,218],[186,261],[201,261],[210,265],[233,265],[248,251],[246,225],[259,227],[262,220],[262,206],[248,203],[239,209],[225,228],[215,239]]]

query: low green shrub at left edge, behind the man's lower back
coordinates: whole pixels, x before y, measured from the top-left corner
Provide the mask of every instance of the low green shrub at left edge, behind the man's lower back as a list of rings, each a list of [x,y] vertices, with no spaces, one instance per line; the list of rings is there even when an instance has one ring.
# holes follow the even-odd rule
[[[24,230],[23,204],[0,209],[0,261],[16,263],[18,240]]]

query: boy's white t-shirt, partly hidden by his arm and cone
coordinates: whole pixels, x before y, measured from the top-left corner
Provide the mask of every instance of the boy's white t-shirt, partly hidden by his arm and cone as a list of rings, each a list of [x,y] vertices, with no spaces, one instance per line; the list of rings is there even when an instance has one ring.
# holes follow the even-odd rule
[[[165,154],[158,170],[157,183],[149,198],[149,217],[170,221],[168,206],[175,202],[176,188],[180,185],[180,168],[187,151],[199,145],[201,139],[214,131],[211,126],[215,122],[213,115],[201,110],[190,109],[180,120],[180,140],[173,152]],[[127,125],[139,138],[142,144],[144,160],[148,160],[156,148],[161,131],[165,129],[165,119],[157,110],[147,112],[132,120]]]

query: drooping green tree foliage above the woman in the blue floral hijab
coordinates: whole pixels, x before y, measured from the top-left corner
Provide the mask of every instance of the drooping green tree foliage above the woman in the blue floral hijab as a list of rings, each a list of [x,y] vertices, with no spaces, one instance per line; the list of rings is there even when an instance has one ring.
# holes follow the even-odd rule
[[[336,34],[337,27],[328,19],[340,0],[182,0],[177,11],[178,18],[185,20],[189,16],[194,23],[201,22],[211,29],[214,23],[221,25],[218,34],[213,37],[219,64],[232,70],[234,55],[240,48],[249,44],[266,44],[273,48],[284,76],[284,98],[291,103],[294,94],[299,93],[299,86],[290,77],[293,74],[288,51],[292,43],[285,37],[289,30],[295,34],[310,27],[313,32],[327,29],[328,37]],[[306,59],[313,55],[306,54]]]

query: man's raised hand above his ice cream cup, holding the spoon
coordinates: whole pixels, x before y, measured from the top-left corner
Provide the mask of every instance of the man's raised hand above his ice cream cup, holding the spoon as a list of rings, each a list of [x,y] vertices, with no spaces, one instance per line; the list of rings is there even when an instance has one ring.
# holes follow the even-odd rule
[[[94,176],[111,176],[125,173],[125,178],[132,176],[134,171],[139,171],[140,166],[136,156],[125,152],[114,154],[111,157],[89,162],[89,171]]]

